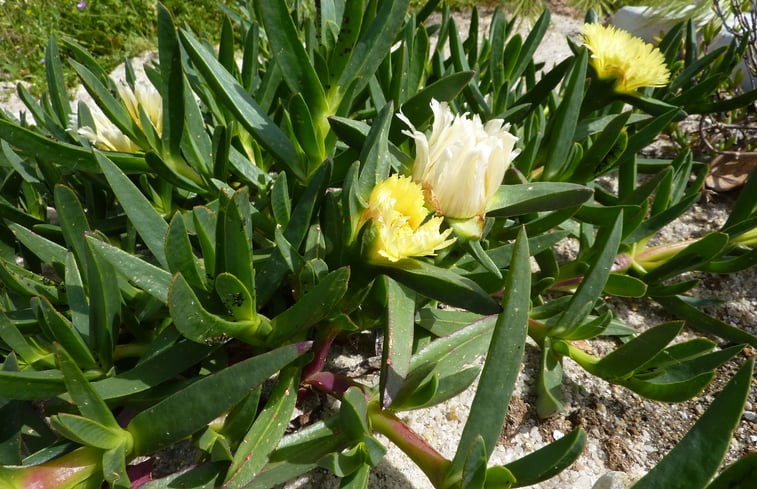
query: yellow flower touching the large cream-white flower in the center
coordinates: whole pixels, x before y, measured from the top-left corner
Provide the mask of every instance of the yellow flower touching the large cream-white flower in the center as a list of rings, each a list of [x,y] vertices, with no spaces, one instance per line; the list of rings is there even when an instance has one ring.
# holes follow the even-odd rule
[[[409,177],[392,175],[378,183],[368,199],[362,221],[373,221],[372,258],[397,262],[411,256],[434,255],[451,245],[452,232],[439,232],[440,217],[428,217],[423,191]]]

